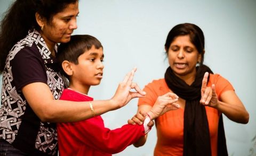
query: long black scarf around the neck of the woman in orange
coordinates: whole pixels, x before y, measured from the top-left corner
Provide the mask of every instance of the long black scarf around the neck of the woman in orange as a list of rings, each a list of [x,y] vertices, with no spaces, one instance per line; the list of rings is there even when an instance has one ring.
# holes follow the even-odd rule
[[[186,100],[184,111],[183,156],[211,156],[211,142],[205,106],[199,103],[205,72],[213,73],[205,65],[196,67],[195,81],[188,85],[176,76],[171,67],[165,72],[165,82],[180,98]],[[218,126],[218,155],[228,155],[222,115]]]

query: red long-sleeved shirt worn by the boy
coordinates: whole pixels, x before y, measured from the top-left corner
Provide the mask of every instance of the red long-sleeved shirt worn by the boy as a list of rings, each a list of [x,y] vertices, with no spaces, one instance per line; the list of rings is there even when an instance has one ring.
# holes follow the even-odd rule
[[[92,101],[93,98],[65,89],[60,98],[69,101]],[[110,130],[101,116],[74,123],[57,124],[60,156],[97,155],[107,156],[123,151],[145,135],[143,125],[124,125]]]

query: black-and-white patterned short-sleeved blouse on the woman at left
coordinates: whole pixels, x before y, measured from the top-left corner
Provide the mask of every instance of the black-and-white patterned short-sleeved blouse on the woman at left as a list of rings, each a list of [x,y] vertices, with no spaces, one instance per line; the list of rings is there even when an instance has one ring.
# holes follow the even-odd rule
[[[56,60],[35,30],[15,44],[6,58],[0,138],[29,155],[57,155],[55,124],[42,123],[21,92],[23,86],[34,82],[46,83],[54,99],[59,99],[65,87]]]

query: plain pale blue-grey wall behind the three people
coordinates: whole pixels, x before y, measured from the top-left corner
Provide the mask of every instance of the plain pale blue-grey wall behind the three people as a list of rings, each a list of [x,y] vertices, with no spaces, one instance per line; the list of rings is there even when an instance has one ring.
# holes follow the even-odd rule
[[[13,1],[0,0],[2,14]],[[164,54],[167,33],[179,23],[197,24],[205,34],[205,64],[231,84],[250,113],[246,125],[224,117],[229,155],[256,155],[256,1],[255,0],[80,0],[74,34],[97,37],[105,53],[105,72],[89,95],[110,99],[127,72],[138,67],[134,82],[141,88],[160,79],[168,66]],[[2,84],[2,82],[1,82]],[[138,99],[102,115],[109,128],[127,123]],[[153,155],[156,129],[141,148],[129,146],[115,155]]]

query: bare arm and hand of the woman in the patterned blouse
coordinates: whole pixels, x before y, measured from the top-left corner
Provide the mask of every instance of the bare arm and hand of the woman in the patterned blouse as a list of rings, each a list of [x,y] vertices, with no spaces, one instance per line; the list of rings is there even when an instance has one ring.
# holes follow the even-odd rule
[[[139,86],[132,82],[135,69],[119,83],[115,95],[110,100],[93,101],[95,115],[121,108],[131,99],[145,95]],[[131,91],[135,89],[135,92]],[[77,122],[93,117],[89,102],[54,100],[49,86],[43,82],[25,85],[22,89],[29,106],[42,122]]]

